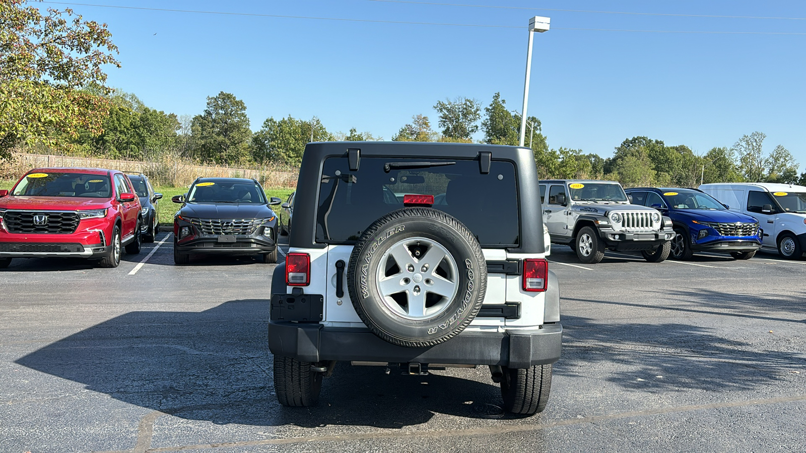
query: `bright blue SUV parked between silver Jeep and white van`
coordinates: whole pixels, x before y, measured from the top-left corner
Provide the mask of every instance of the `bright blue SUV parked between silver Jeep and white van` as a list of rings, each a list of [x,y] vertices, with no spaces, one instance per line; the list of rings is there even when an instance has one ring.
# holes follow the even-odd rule
[[[736,260],[749,260],[761,248],[756,219],[728,210],[702,190],[636,187],[625,192],[634,204],[671,218],[676,234],[670,256],[675,260],[688,260],[695,251],[728,251]]]

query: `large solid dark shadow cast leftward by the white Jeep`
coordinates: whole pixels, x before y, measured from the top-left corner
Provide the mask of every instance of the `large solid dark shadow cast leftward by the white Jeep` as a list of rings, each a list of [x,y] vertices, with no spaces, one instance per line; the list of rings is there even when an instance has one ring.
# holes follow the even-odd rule
[[[16,363],[131,405],[218,424],[401,428],[428,422],[434,413],[481,418],[474,405],[501,405],[498,386],[481,368],[457,371],[467,373],[463,379],[339,364],[323,381],[317,407],[282,407],[273,390],[267,326],[265,300],[228,301],[202,312],[134,311]],[[484,379],[488,384],[479,382]]]

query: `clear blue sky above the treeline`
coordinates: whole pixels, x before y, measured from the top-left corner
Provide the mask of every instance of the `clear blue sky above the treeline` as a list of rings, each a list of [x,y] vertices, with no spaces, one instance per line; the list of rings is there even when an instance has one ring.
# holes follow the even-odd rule
[[[806,2],[420,0],[432,3],[676,15],[806,18]],[[559,10],[440,6],[375,0],[82,0],[112,6],[316,16],[452,27],[131,10],[73,4],[109,25],[122,69],[109,84],[147,106],[199,114],[206,97],[243,99],[251,128],[291,114],[316,115],[330,131],[390,139],[413,114],[445,98],[501,92],[521,109],[526,25],[549,16],[534,41],[529,114],[550,147],[611,156],[634,135],[686,144],[698,154],[767,134],[806,164],[806,20],[621,15]],[[46,3],[64,8],[66,5]],[[520,27],[520,28],[517,28]],[[753,31],[800,35],[644,33]],[[155,35],[156,34],[156,35]],[[477,139],[482,138],[479,133]]]

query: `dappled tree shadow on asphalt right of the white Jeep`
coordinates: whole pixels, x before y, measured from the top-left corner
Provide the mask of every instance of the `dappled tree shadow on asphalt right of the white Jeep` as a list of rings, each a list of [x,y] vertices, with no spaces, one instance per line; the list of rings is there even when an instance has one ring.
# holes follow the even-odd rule
[[[607,380],[643,393],[758,389],[786,380],[806,363],[801,352],[768,348],[775,343],[760,347],[769,341],[763,337],[771,335],[768,330],[761,323],[757,331],[735,339],[715,328],[676,322],[614,323],[565,316],[563,357],[555,374]],[[592,376],[591,370],[600,375]]]

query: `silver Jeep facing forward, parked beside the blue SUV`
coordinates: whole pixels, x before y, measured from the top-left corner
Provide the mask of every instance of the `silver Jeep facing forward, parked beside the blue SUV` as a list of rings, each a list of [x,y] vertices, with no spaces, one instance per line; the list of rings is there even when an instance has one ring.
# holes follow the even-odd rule
[[[616,181],[540,181],[540,201],[551,242],[570,246],[583,263],[599,263],[605,249],[641,251],[652,263],[669,256],[671,218],[631,204]]]

